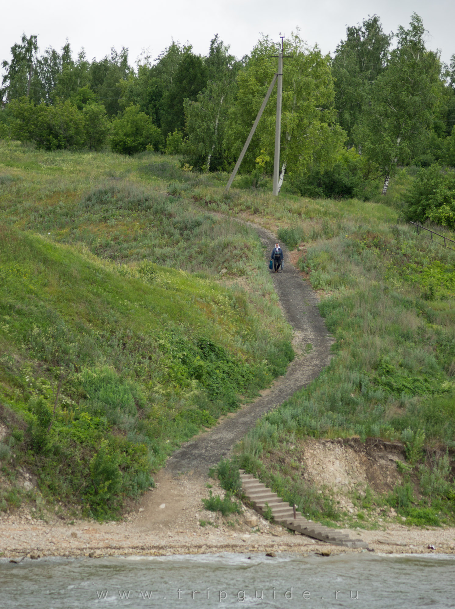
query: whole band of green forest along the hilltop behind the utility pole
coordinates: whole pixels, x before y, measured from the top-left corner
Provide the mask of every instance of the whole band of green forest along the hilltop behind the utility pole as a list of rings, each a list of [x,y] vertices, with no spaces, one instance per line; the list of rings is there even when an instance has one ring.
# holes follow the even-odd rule
[[[333,56],[309,48],[298,30],[284,40],[284,192],[379,200],[390,178],[412,167],[418,179],[404,196],[407,219],[453,227],[455,54],[445,65],[425,37],[414,13],[395,33],[384,32],[376,15],[348,27]],[[229,172],[279,50],[264,36],[238,59],[215,35],[206,56],[173,42],[133,67],[125,48],[90,62],[83,49],[74,57],[70,43],[40,54],[37,37],[24,34],[2,63],[0,136],[44,150],[154,150],[179,154],[195,170]],[[240,186],[269,186],[273,95]]]

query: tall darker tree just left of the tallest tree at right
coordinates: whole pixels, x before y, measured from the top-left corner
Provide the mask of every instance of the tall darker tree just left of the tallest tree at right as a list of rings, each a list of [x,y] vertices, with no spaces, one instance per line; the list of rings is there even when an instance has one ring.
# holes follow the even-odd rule
[[[371,85],[385,69],[393,34],[382,30],[378,15],[346,29],[332,60],[335,79],[335,107],[340,125],[353,144],[353,128],[370,95]]]

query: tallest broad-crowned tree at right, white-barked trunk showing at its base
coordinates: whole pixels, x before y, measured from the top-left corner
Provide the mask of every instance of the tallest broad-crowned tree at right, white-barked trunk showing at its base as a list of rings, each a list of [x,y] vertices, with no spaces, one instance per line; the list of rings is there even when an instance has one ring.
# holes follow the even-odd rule
[[[381,167],[383,194],[397,164],[407,163],[423,149],[440,94],[439,55],[426,51],[422,19],[413,13],[409,29],[399,26],[397,46],[387,69],[371,87],[354,137],[367,157]]]

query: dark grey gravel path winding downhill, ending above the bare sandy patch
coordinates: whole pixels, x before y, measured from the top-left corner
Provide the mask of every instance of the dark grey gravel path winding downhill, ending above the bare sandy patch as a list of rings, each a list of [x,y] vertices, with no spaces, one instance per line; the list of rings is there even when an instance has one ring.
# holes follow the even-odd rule
[[[265,228],[247,222],[260,236],[264,245],[264,261],[276,243],[276,236]],[[215,428],[186,442],[168,459],[166,470],[173,474],[192,471],[207,473],[209,468],[227,456],[245,433],[254,427],[257,419],[305,387],[329,364],[333,342],[324,320],[318,311],[318,298],[298,270],[290,264],[284,245],[284,270],[274,273],[273,283],[284,315],[295,331],[295,349],[301,354],[288,365],[287,372],[270,390],[263,392],[253,404],[248,404],[234,415],[225,417]],[[307,354],[303,354],[309,351]]]

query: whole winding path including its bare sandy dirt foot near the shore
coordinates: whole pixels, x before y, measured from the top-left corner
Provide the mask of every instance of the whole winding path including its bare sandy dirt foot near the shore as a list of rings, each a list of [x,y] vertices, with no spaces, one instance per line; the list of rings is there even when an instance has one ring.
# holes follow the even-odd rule
[[[256,224],[246,224],[259,234],[264,246],[264,264],[268,264],[276,236]],[[163,528],[192,529],[201,513],[201,498],[208,493],[206,485],[213,484],[208,478],[210,467],[226,457],[263,414],[309,384],[328,365],[333,339],[319,313],[318,297],[290,264],[287,248],[281,247],[285,256],[284,270],[272,272],[272,276],[282,311],[294,329],[293,345],[297,353],[294,361],[288,365],[286,374],[276,379],[253,403],[223,417],[217,426],[174,452],[156,476],[157,487],[143,496],[141,511],[134,520],[135,529],[156,532]]]

